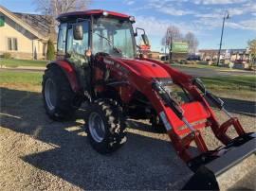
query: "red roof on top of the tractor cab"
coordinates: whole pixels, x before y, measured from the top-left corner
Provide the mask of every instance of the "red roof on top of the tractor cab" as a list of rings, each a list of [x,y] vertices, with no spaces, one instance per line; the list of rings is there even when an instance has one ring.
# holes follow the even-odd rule
[[[60,14],[57,17],[58,21],[64,21],[69,20],[69,18],[76,18],[76,17],[84,17],[84,16],[90,16],[90,15],[102,15],[103,12],[107,12],[109,16],[119,17],[122,19],[129,19],[130,16],[126,14],[122,14],[119,12],[104,10],[104,9],[89,9],[84,11],[74,11],[74,12],[66,12],[63,14]]]

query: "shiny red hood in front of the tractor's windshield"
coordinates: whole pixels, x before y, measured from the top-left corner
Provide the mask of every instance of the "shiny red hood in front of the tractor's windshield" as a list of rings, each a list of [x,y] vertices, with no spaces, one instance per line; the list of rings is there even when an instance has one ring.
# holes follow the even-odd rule
[[[130,59],[118,59],[118,61],[122,61],[129,65],[129,67],[133,68],[138,75],[147,77],[147,78],[171,78],[169,73],[158,64],[151,61],[141,61],[138,59],[130,60]]]

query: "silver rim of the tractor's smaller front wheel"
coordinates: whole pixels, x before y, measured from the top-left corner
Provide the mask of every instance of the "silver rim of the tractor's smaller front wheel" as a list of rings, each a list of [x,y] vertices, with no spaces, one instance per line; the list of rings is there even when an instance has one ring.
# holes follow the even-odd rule
[[[92,138],[96,142],[101,143],[105,136],[105,127],[101,115],[98,113],[91,113],[88,123]]]

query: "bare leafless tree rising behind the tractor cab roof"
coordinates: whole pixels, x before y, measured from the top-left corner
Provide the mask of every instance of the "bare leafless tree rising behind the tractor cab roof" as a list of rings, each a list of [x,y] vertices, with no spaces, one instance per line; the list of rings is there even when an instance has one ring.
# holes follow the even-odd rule
[[[91,0],[34,0],[36,9],[50,19],[52,26],[57,26],[55,20],[59,14],[75,10],[85,10]]]

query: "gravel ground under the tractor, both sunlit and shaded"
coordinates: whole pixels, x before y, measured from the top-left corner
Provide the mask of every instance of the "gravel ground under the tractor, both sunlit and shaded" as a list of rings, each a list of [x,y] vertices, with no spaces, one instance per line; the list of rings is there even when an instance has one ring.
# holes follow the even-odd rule
[[[82,111],[74,121],[54,122],[45,114],[39,88],[9,88],[1,88],[0,190],[179,189],[192,175],[168,137],[153,132],[147,121],[129,120],[125,146],[103,156],[86,140]],[[232,113],[255,131],[255,103],[240,101]],[[216,148],[210,130],[203,134]]]

